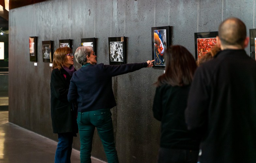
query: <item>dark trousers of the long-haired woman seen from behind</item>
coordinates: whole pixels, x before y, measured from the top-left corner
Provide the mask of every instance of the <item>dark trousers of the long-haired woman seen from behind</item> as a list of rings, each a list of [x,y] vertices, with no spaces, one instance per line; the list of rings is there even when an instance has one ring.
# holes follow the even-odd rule
[[[197,163],[199,150],[161,148],[158,163]]]

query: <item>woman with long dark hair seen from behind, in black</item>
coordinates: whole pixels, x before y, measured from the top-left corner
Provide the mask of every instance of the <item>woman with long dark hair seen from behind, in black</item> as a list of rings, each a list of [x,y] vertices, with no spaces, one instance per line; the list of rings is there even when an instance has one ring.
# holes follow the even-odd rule
[[[184,111],[196,70],[192,54],[180,45],[164,53],[165,73],[158,77],[153,104],[154,117],[161,121],[158,163],[197,162],[199,140],[187,130]]]

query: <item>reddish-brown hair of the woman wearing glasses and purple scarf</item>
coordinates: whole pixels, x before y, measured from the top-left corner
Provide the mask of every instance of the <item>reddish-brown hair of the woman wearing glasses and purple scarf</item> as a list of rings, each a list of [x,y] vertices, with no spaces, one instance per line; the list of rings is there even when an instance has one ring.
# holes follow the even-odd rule
[[[69,47],[63,47],[63,48],[58,48],[55,50],[53,54],[53,67],[58,68],[59,70],[62,68],[63,64],[67,61],[66,55],[72,53],[72,49]]]

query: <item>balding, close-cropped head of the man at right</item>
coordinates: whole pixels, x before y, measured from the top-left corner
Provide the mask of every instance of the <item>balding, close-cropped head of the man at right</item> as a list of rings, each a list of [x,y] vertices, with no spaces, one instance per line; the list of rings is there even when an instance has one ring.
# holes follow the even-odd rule
[[[244,49],[248,42],[246,26],[240,19],[228,18],[219,25],[217,43],[222,50]]]

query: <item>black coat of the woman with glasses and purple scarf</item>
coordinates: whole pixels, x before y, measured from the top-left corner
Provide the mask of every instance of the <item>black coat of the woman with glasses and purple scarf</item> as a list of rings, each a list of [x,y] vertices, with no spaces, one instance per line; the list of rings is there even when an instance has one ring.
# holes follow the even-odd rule
[[[53,133],[78,132],[77,110],[67,97],[70,79],[66,70],[53,69],[50,84]]]

